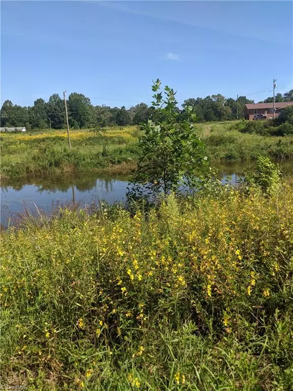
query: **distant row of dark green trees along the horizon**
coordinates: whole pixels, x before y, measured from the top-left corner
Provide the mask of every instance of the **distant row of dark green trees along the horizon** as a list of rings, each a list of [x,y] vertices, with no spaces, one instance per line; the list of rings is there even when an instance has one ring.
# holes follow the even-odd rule
[[[276,102],[293,100],[293,90],[285,94],[277,94]],[[264,103],[273,101],[272,97],[264,100]],[[246,96],[238,98],[238,117],[244,117],[246,103],[254,103],[254,100]],[[259,102],[260,103],[260,102]],[[225,121],[237,118],[237,100],[226,98],[221,94],[207,96],[205,98],[189,98],[184,101],[182,108],[176,107],[180,118],[184,118],[186,109],[192,106],[198,122]],[[90,98],[76,92],[69,95],[67,100],[69,125],[71,128],[95,128],[104,126],[137,125],[144,123],[154,112],[154,106],[139,103],[130,108],[110,107],[106,105],[94,106]],[[50,96],[48,102],[39,98],[33,106],[20,106],[6,100],[1,108],[1,126],[17,127],[25,126],[31,129],[46,129],[51,124],[52,129],[62,129],[66,126],[64,100],[58,94]]]

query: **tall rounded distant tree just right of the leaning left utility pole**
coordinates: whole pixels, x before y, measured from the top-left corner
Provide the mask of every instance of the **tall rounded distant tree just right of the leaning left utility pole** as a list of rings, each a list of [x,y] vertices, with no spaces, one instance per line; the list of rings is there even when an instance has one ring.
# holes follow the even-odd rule
[[[91,127],[94,122],[90,98],[73,92],[68,97],[69,124],[74,128]]]

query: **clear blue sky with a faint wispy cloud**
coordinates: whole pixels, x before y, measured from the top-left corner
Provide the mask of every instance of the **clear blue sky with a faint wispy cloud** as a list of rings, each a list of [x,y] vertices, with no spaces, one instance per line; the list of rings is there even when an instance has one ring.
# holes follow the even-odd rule
[[[2,1],[1,102],[79,92],[93,104],[293,88],[289,1]],[[278,92],[278,91],[277,91]],[[255,101],[272,92],[251,95]]]

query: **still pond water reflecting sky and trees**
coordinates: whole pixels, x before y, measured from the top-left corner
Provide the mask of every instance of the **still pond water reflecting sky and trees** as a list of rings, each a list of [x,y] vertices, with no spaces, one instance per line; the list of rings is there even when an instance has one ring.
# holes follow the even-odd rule
[[[219,176],[224,183],[227,178],[232,185],[246,169],[244,165],[220,166]],[[287,169],[285,170],[287,171]],[[78,204],[80,207],[125,201],[129,178],[121,176],[101,176],[84,173],[71,180],[51,178],[33,182],[15,182],[1,187],[1,225],[15,224],[25,209],[37,214],[38,209],[51,213],[56,205]]]

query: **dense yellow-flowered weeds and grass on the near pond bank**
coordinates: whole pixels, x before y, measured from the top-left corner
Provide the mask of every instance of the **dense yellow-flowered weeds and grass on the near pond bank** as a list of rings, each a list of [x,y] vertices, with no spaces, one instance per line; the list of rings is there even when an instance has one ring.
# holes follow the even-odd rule
[[[293,182],[2,233],[2,383],[292,390]]]

